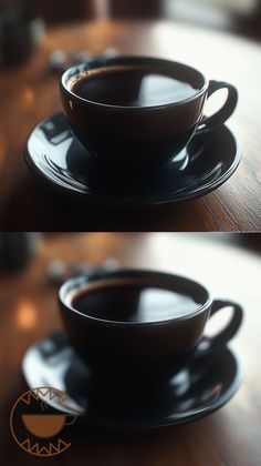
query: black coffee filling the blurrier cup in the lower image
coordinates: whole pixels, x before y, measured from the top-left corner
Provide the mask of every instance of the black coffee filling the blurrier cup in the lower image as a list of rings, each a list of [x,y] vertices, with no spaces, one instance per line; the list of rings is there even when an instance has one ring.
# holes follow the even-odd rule
[[[109,281],[80,291],[72,306],[90,316],[121,322],[157,322],[194,313],[199,304],[187,294],[130,281]]]

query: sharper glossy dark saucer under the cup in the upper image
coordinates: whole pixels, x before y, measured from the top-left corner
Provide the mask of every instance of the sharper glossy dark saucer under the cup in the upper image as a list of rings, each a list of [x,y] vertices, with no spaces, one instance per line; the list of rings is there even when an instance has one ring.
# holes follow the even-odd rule
[[[220,125],[196,134],[167,165],[118,170],[87,153],[63,113],[32,131],[24,154],[29,165],[52,185],[114,206],[165,205],[206,195],[231,176],[241,158],[234,136]]]

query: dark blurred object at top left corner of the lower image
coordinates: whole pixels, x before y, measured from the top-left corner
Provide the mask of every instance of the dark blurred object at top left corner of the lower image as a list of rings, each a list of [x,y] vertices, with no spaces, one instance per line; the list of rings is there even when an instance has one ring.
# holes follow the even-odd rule
[[[0,233],[0,274],[25,269],[36,250],[39,239],[38,233]]]

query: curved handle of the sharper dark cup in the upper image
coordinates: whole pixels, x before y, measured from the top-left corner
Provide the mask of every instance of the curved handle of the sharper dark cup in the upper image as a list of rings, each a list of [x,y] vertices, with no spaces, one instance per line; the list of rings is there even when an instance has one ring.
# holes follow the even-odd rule
[[[218,112],[216,112],[213,115],[203,116],[201,122],[199,123],[197,132],[209,131],[212,128],[225,123],[225,121],[227,121],[229,116],[233,113],[238,103],[237,89],[228,82],[209,81],[208,99],[210,98],[210,95],[213,94],[213,92],[218,91],[219,89],[228,89],[228,97],[223,107],[220,110],[218,110]]]

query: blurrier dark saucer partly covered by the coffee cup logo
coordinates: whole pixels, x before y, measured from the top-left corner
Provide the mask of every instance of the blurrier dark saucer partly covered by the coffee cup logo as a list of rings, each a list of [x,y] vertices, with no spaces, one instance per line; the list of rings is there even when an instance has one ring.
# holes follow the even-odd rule
[[[226,346],[199,356],[174,377],[143,395],[129,389],[114,395],[109,386],[93,383],[88,367],[79,358],[63,333],[51,335],[30,347],[22,372],[30,388],[54,387],[71,401],[63,412],[79,413],[91,425],[114,427],[160,427],[190,423],[219,409],[238,391],[241,375],[238,362]],[[135,394],[134,394],[135,393]],[[53,398],[49,404],[59,409]]]

